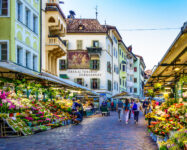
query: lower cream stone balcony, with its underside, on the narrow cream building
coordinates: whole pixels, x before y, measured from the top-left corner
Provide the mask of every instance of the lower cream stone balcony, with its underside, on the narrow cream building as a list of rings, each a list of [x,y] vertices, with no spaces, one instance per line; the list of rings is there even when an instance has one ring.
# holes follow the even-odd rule
[[[67,47],[60,37],[48,37],[46,49],[57,57],[62,57],[67,53]]]

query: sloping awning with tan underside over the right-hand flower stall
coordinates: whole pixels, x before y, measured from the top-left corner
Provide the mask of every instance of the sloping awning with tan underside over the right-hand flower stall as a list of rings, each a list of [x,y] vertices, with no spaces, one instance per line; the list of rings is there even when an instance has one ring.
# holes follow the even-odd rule
[[[144,90],[153,88],[155,83],[172,87],[179,77],[187,74],[187,22],[164,57],[146,82]]]

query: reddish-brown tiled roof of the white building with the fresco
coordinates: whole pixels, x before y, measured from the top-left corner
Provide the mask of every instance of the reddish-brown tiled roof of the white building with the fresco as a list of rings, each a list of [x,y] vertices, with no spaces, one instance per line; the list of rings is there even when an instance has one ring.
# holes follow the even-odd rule
[[[106,33],[97,19],[66,19],[67,33]],[[79,29],[82,26],[83,29]]]

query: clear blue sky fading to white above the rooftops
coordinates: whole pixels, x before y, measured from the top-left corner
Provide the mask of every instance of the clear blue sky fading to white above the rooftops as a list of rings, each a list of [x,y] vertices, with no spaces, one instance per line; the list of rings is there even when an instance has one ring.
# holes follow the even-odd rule
[[[144,58],[146,69],[152,69],[164,56],[187,21],[187,0],[62,0],[65,15],[74,10],[76,18],[96,18],[101,24],[114,25],[126,46]],[[160,29],[170,30],[131,30]]]

